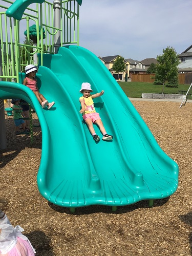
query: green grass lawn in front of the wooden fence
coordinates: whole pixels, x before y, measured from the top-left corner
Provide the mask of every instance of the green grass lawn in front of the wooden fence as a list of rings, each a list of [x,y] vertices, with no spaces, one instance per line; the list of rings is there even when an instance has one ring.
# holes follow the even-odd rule
[[[149,82],[118,82],[127,97],[141,98],[142,93],[162,93],[163,86]],[[179,84],[178,88],[169,88],[164,86],[164,93],[178,94],[178,90],[188,91],[188,84]],[[191,90],[190,90],[191,93]],[[188,99],[192,99],[190,96]]]

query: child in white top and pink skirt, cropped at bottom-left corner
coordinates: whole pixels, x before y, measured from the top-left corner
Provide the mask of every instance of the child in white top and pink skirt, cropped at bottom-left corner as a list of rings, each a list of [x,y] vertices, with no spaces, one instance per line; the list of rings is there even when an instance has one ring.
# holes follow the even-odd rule
[[[5,214],[7,208],[8,201],[0,198],[0,255],[34,256],[35,249],[22,234],[24,229],[20,226],[14,228],[8,220]]]

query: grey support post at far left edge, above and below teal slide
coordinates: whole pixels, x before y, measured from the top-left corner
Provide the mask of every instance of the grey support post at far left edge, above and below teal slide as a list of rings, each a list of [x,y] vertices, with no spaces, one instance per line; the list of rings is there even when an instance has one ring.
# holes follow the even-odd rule
[[[0,39],[1,44],[1,39]],[[2,50],[0,47],[0,75],[3,76],[2,71]],[[0,81],[2,81],[2,78],[0,77]],[[0,99],[0,149],[4,150],[7,148],[6,143],[6,129],[5,129],[5,106],[4,106],[4,100]]]

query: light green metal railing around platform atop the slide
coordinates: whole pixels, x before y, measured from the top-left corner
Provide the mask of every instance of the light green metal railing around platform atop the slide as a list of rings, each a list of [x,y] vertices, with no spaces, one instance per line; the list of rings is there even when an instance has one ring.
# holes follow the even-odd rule
[[[7,9],[14,1],[1,0],[0,80],[19,82],[18,73],[24,71],[26,65],[43,65],[43,53],[54,54],[56,49],[63,45],[79,45],[79,5],[73,0],[57,1],[57,6],[49,1],[32,4],[26,8],[22,19],[17,20],[6,15]],[[58,7],[60,18],[59,23],[56,23],[55,10]],[[34,24],[36,31],[39,31],[40,26],[40,32],[37,32],[36,42],[31,44],[30,27]],[[24,31],[27,31],[26,38]],[[44,34],[46,38],[40,39]],[[36,57],[37,53],[41,56],[40,63]]]

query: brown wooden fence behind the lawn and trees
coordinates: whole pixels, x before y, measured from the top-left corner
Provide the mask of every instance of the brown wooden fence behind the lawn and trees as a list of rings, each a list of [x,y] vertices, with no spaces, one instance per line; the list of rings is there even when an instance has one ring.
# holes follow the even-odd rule
[[[179,74],[179,84],[191,84],[192,73]],[[132,82],[154,82],[155,74],[132,74]]]

